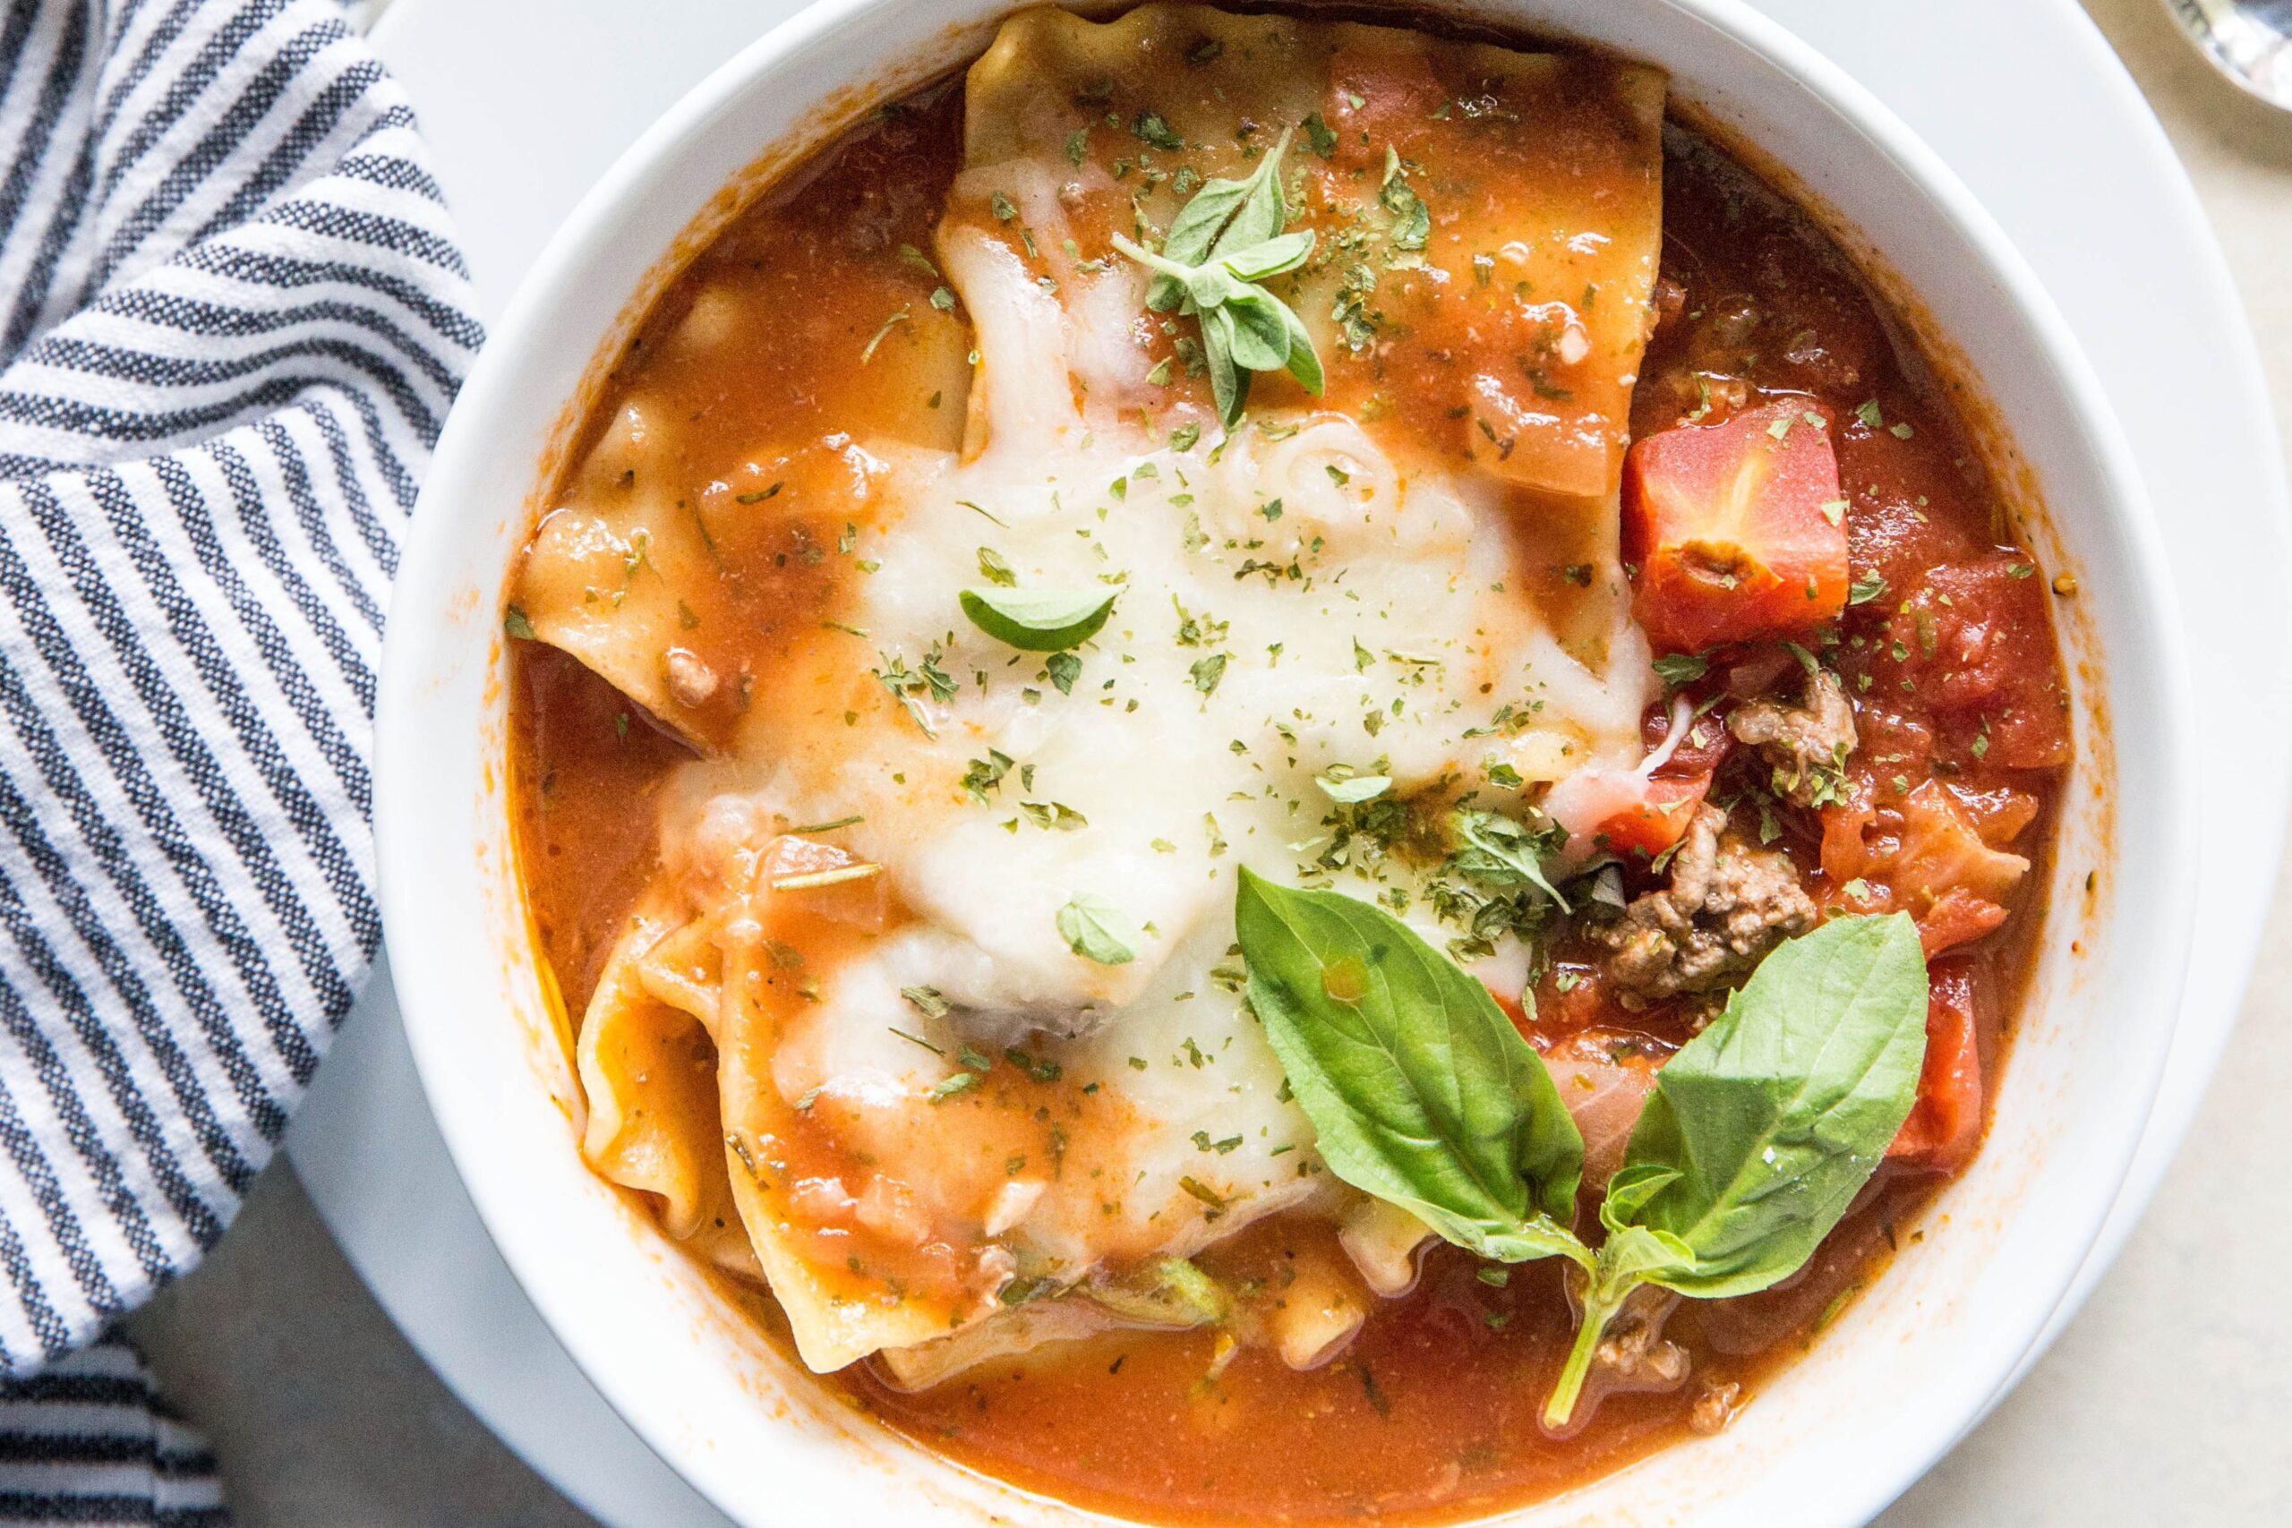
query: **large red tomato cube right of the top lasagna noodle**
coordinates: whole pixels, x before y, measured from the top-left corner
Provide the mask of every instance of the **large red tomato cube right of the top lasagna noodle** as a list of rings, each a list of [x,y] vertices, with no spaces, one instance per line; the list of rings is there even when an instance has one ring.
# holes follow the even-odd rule
[[[1632,614],[1666,653],[1802,637],[1847,602],[1829,426],[1806,403],[1648,435],[1623,465]]]

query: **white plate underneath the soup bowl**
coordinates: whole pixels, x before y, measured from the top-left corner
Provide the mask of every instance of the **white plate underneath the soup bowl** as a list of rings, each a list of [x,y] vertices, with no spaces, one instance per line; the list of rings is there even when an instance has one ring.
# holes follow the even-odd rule
[[[2196,197],[2070,0],[1840,7],[1756,0],[1898,110],[1987,202],[2090,353],[2164,520],[2219,735],[2180,1033],[2141,1159],[2065,1322],[2132,1230],[2203,1097],[2269,905],[2292,717],[2242,671],[2285,641],[2269,582],[2292,518],[2258,357]],[[415,96],[486,312],[605,165],[676,96],[791,14],[786,0],[397,0],[376,46]],[[1967,39],[1980,37],[1980,48]],[[2074,135],[2061,124],[2074,121]],[[2097,254],[2106,252],[2106,254]],[[2125,314],[2138,312],[2138,325]],[[2219,548],[2237,548],[2219,557]],[[2209,660],[2209,662],[2207,662]],[[541,1473],[607,1521],[722,1523],[596,1397],[502,1267],[429,1120],[376,983],[289,1139],[351,1260],[415,1347]],[[387,1171],[376,1171],[387,1164]]]

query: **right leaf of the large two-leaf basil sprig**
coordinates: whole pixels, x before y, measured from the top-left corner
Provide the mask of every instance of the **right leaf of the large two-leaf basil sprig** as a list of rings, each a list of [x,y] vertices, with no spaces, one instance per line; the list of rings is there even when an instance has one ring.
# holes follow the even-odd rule
[[[1694,1249],[1680,1294],[1797,1274],[1918,1100],[1925,953],[1907,912],[1831,919],[1781,944],[1655,1074],[1625,1171],[1669,1171],[1632,1223]]]

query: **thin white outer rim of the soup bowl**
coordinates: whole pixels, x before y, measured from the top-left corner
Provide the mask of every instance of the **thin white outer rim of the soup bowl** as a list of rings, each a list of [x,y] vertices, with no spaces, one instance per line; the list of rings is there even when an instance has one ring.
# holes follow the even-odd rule
[[[488,415],[497,408],[497,394],[513,387],[518,362],[527,348],[527,339],[534,328],[548,316],[548,312],[564,298],[573,277],[580,273],[582,263],[601,245],[610,245],[614,238],[614,220],[642,188],[653,179],[653,174],[674,163],[681,153],[690,151],[699,140],[708,121],[740,101],[747,92],[759,89],[782,64],[798,57],[809,44],[825,41],[827,37],[862,23],[871,11],[903,9],[915,5],[928,5],[931,0],[814,0],[807,9],[798,11],[788,21],[775,25],[770,32],[761,34],[756,41],[745,46],[722,66],[717,66],[706,80],[681,96],[667,112],[662,112],[651,128],[646,128],[617,160],[614,165],[589,188],[564,225],[550,236],[548,245],[534,261],[527,277],[520,282],[507,314],[497,323],[488,346],[479,355],[468,383],[463,385],[461,401],[447,419],[447,428],[440,435],[438,451],[431,463],[431,474],[424,481],[422,504],[433,497],[433,483],[452,483],[458,476],[463,458],[481,458],[486,444],[477,440],[474,419]],[[1022,9],[1027,0],[1004,0],[1004,11]],[[1212,0],[1215,2],[1215,0]],[[1295,0],[1306,5],[1309,0]],[[2164,568],[2161,536],[2157,529],[2154,511],[2143,486],[2141,472],[2132,460],[2132,451],[2116,424],[2116,415],[2102,392],[2099,378],[2093,371],[2083,348],[2074,339],[2067,321],[2061,316],[2049,293],[2022,259],[2019,250],[2008,241],[2003,229],[1994,222],[1987,208],[1973,197],[1973,192],[1957,179],[1957,174],[1916,137],[1916,133],[1900,119],[1891,108],[1886,108],[1875,94],[1861,87],[1852,76],[1831,64],[1827,57],[1815,53],[1808,44],[1799,41],[1781,23],[1769,21],[1760,11],[1751,9],[1742,0],[1643,0],[1650,7],[1678,11],[1687,18],[1701,21],[1730,37],[1735,44],[1760,57],[1765,64],[1788,76],[1797,89],[1813,96],[1820,105],[1836,112],[1845,124],[1857,128],[1875,149],[1879,149],[1902,181],[1928,199],[1930,215],[1944,225],[1957,241],[1962,241],[1973,263],[1983,275],[1994,279],[2015,314],[2028,325],[2031,339],[2044,360],[2051,364],[2054,385],[2063,394],[2067,412],[2083,422],[2086,444],[2095,454],[2095,467],[2102,479],[2111,486],[2099,513],[2111,525],[2111,529],[2129,543],[2127,564],[2138,573],[2132,582],[2134,591],[2134,616],[2143,619],[2145,630],[2141,637],[2152,644],[2145,657],[2152,669],[2166,680],[2159,687],[2157,701],[2164,706],[2164,715],[2145,724],[2143,731],[2152,735],[2148,747],[2154,749],[2157,777],[2164,783],[2161,802],[2157,806],[2168,813],[2161,825],[2161,836],[2168,843],[2193,843],[2193,822],[2198,816],[2198,802],[2191,790],[2196,779],[2193,751],[2191,751],[2191,728],[2187,717],[2191,710],[2189,687],[2177,683],[2187,669],[2187,651],[2182,637],[2182,623],[2177,621],[2177,596],[2171,584],[2157,573]],[[1112,5],[1077,5],[1075,9],[1086,9],[1091,14],[1128,9],[1130,0]],[[1478,9],[1506,9],[1506,0],[1481,0]],[[1524,7],[1522,7],[1524,9]],[[1549,9],[1538,5],[1536,9]],[[1565,5],[1561,7],[1565,9]],[[1556,32],[1565,37],[1565,25],[1552,27],[1543,18],[1526,21],[1531,27],[1543,27],[1545,32]],[[889,60],[887,60],[889,62]],[[848,85],[848,82],[841,82]],[[1753,144],[1756,147],[1756,144]],[[766,149],[768,151],[768,149]],[[807,144],[809,151],[809,144]],[[694,213],[697,218],[701,213]],[[713,231],[713,229],[711,229]],[[690,229],[681,231],[672,241],[662,243],[662,254],[676,247]],[[1879,250],[1884,257],[1884,250]],[[614,298],[614,302],[633,302],[644,307],[653,300],[658,289],[644,289],[635,298]],[[610,332],[607,332],[610,334]],[[591,362],[594,364],[594,362]],[[456,431],[456,422],[461,428]],[[536,463],[539,467],[541,463]],[[452,488],[438,488],[438,497],[447,497]],[[518,511],[523,515],[523,506]],[[401,561],[403,575],[433,570],[452,575],[452,564],[440,559],[447,552],[447,543],[454,531],[438,529],[442,513],[417,513],[413,518],[406,557]],[[424,582],[429,586],[447,586],[452,577],[442,580],[415,580],[417,586]],[[401,609],[401,600],[394,600],[394,612]],[[433,612],[435,614],[435,612]],[[408,930],[424,923],[419,912],[422,882],[435,861],[417,861],[413,850],[413,838],[417,834],[399,834],[392,829],[394,822],[410,820],[415,816],[415,802],[403,800],[403,781],[419,777],[422,761],[410,754],[410,738],[419,731],[410,719],[401,726],[392,724],[392,717],[410,717],[419,710],[419,690],[426,683],[426,674],[417,667],[419,660],[415,648],[415,623],[392,621],[385,635],[385,653],[380,667],[380,683],[376,694],[376,848],[380,859],[380,907],[385,930]],[[490,632],[490,625],[486,628]],[[406,632],[406,635],[401,635]],[[2113,722],[2109,726],[2111,735],[2122,735],[2125,724]],[[403,841],[401,841],[403,838]],[[2150,969],[2159,971],[2159,983],[2177,992],[2180,974],[2187,962],[2189,946],[2189,921],[2193,916],[2193,896],[2189,896],[2198,866],[2193,854],[2171,854],[2164,861],[2168,873],[2168,884],[2154,898],[2166,907],[2182,909],[2180,919],[2164,930],[2164,937],[2150,944]],[[2056,916],[2063,916],[2056,909]],[[2122,914],[2116,914],[2122,916]],[[2116,921],[2116,916],[2111,921]],[[445,1013],[447,1003],[431,1001],[426,974],[413,971],[394,962],[394,974],[399,976],[401,992],[401,1015],[408,1033],[408,1045],[415,1056],[417,1072],[422,1077],[422,1088],[431,1102],[433,1116],[438,1118],[440,1134],[447,1141],[449,1155],[454,1159],[456,1173],[470,1191],[472,1203],[486,1223],[488,1237],[500,1249],[504,1262],[511,1267],[518,1283],[532,1297],[536,1310],[541,1310],[550,1331],[564,1345],[566,1354],[582,1370],[582,1375],[598,1388],[601,1397],[630,1425],[630,1429],[646,1441],[672,1468],[676,1468],[685,1480],[697,1484],[711,1501],[722,1510],[733,1507],[711,1482],[713,1471],[701,1471],[690,1457],[692,1450],[681,1448],[678,1439],[667,1436],[656,1427],[656,1418],[639,1413],[635,1407],[623,1402],[621,1386],[607,1384],[612,1365],[598,1361],[594,1349],[582,1340],[578,1322],[562,1320],[562,1301],[552,1287],[552,1276],[548,1271],[545,1249],[525,1246],[518,1237],[504,1237],[500,1232],[502,1214],[495,1203],[497,1194],[509,1189],[493,1184],[486,1173],[474,1171],[472,1164],[486,1161],[484,1141],[472,1120],[463,1118],[452,1109],[440,1106],[438,1079],[442,1070],[454,1065],[454,1056],[447,1049],[447,1033],[426,1022],[424,1015]],[[2173,1026],[2177,1024],[2177,1010],[2173,1022],[2159,1024],[2152,1042],[2154,1061],[2161,1063],[2166,1045],[2171,1040]],[[2088,1251],[2093,1251],[2109,1207],[2122,1184],[2134,1148],[2141,1136],[2141,1127],[2148,1120],[2148,1109],[2154,1102],[2157,1068],[2150,1068],[2150,1081],[2143,1093],[2143,1104],[2138,1118],[2127,1120],[2122,1141],[2113,1141],[2109,1152],[2109,1171],[2093,1175],[2095,1182],[2106,1180],[2106,1191],[2095,1194],[2095,1205],[2090,1214],[2079,1219],[2079,1232],[2063,1239],[2063,1258],[2058,1278],[2047,1281],[2047,1294],[2042,1297],[2042,1310],[2028,1320],[2017,1342],[2001,1349],[1992,1361],[1973,1365],[1967,1372],[1953,1377],[1953,1381],[1934,1381],[1932,1391],[1946,1391],[1939,1404],[1928,1404],[1923,1416],[1928,1425],[1916,1429],[1912,1436],[1898,1441],[1889,1452],[1898,1462],[1895,1471],[1884,1471],[1863,1480],[1843,1482],[1843,1491],[1834,1503],[1840,1507],[1836,1519],[1824,1521],[1866,1521],[1879,1512],[1889,1501],[1893,1501],[1902,1489],[1907,1489],[1918,1475],[1923,1475],[1950,1446],[1955,1446],[1971,1427],[1987,1416],[1987,1411],[2003,1397],[2033,1349],[2047,1336],[2049,1317],[2070,1297],[2079,1267],[2083,1265]],[[2118,1150],[2120,1148],[2120,1150]],[[2074,1255],[2070,1249],[2074,1242]],[[1080,1510],[1089,1514],[1089,1510]],[[1481,1521],[1481,1519],[1474,1519]]]

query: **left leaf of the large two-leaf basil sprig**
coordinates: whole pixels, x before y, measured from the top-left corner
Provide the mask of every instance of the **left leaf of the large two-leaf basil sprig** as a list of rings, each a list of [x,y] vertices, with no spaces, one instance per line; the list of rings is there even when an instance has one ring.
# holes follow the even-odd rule
[[[1488,987],[1380,907],[1247,868],[1233,923],[1332,1173],[1485,1258],[1588,1265],[1584,1136]]]

